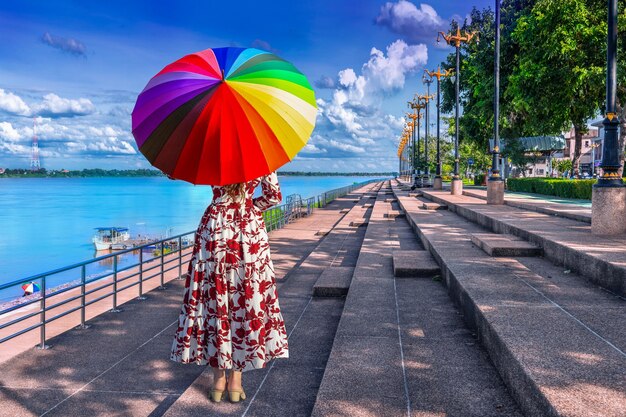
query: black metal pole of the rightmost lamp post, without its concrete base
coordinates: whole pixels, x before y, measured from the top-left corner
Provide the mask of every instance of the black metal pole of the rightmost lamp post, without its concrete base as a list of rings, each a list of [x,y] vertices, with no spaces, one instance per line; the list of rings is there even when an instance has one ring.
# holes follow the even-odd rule
[[[609,21],[606,51],[606,117],[604,125],[604,145],[602,147],[602,175],[594,187],[623,187],[618,174],[620,168],[617,131],[619,117],[615,112],[617,89],[617,0],[608,0]]]

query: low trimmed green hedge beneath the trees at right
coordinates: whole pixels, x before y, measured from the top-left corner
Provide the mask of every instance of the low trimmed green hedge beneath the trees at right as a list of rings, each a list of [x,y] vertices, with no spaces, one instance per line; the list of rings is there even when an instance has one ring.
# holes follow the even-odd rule
[[[569,180],[564,178],[509,178],[509,191],[553,195],[563,198],[591,200],[591,189],[596,180]]]

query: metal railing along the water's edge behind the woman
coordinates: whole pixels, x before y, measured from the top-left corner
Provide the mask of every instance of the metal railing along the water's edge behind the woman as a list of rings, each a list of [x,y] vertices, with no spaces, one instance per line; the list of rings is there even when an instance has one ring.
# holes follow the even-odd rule
[[[299,196],[289,196],[286,198],[287,203],[273,207],[263,213],[266,228],[268,231],[279,229],[295,219],[311,214],[313,208],[324,207],[330,201],[375,181],[379,180],[355,183],[306,199]],[[30,298],[0,310],[0,335],[4,333],[3,330],[17,326],[26,320],[34,319],[36,321],[30,325],[27,323],[26,327],[2,336],[0,345],[27,332],[39,329],[40,334],[37,347],[39,349],[47,349],[46,326],[49,323],[68,314],[80,311],[78,328],[86,329],[89,327],[85,323],[86,312],[87,307],[90,305],[110,298],[111,309],[109,311],[120,312],[122,311],[118,306],[118,295],[120,292],[137,287],[137,299],[143,300],[145,299],[144,283],[147,281],[159,279],[158,288],[164,289],[166,273],[175,269],[178,269],[177,278],[183,279],[183,263],[191,257],[191,247],[194,239],[195,231],[191,231],[0,285],[0,292],[15,289],[24,282],[36,283],[40,287],[39,291],[29,296]],[[145,250],[152,250],[153,256],[145,259]],[[138,262],[120,265],[119,261],[122,256],[137,251],[139,251]],[[104,273],[87,273],[90,266],[97,266],[102,263],[111,264],[112,269]],[[51,282],[59,281],[59,278],[67,276],[78,277],[71,280],[70,283],[57,286],[56,288],[49,288]],[[67,293],[71,291],[75,293],[68,295]],[[106,292],[100,294],[99,292],[102,291]],[[63,294],[68,296],[66,298],[60,297]],[[69,306],[64,311],[58,312],[60,307],[77,300],[79,300],[78,305]],[[32,307],[29,309],[29,306],[34,307],[37,304],[39,308],[29,311],[32,309]],[[53,312],[53,310],[57,311]],[[10,317],[9,313],[19,314],[20,312],[24,314],[8,321],[2,321],[3,318]],[[49,315],[49,313],[54,313],[54,315]]]

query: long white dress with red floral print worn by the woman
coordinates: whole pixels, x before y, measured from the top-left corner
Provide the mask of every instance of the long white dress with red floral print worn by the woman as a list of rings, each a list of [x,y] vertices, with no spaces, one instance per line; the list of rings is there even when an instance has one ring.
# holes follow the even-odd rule
[[[261,184],[263,194],[253,198]],[[281,200],[276,173],[231,198],[213,187],[198,230],[170,359],[247,371],[287,358],[263,211]]]

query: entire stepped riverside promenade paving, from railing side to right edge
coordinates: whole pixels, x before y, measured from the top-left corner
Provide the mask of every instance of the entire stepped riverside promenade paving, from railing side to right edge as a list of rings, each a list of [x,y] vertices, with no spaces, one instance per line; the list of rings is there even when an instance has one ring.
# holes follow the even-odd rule
[[[604,255],[583,208],[466,192],[373,183],[271,232],[290,358],[242,403],[169,361],[172,279],[1,363],[0,416],[626,415],[626,245]]]

